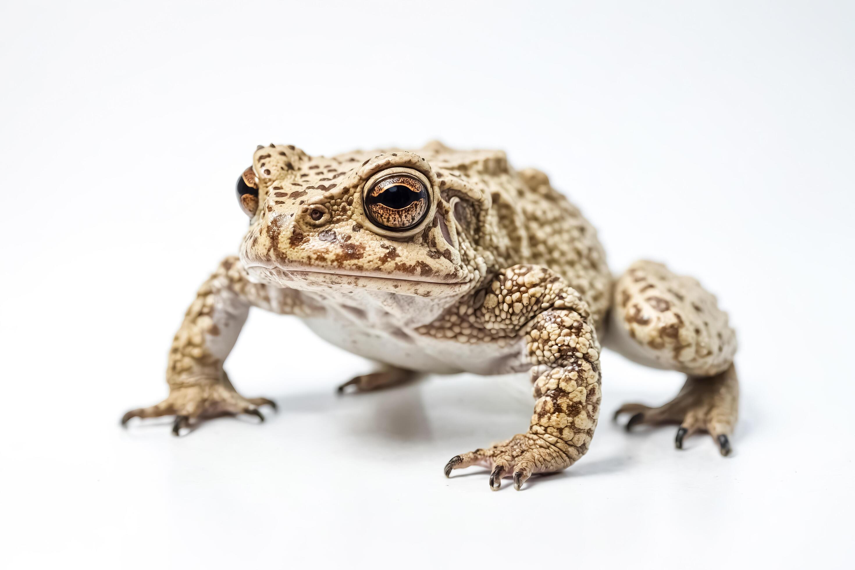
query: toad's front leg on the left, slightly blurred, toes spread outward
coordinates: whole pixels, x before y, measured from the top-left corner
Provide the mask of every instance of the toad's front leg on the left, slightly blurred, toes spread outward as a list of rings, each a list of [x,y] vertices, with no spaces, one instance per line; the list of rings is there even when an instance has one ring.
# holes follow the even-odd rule
[[[304,309],[298,291],[278,290],[251,283],[237,257],[227,257],[199,288],[196,299],[175,334],[169,350],[169,395],[161,403],[133,409],[121,419],[174,415],[174,435],[193,420],[224,414],[264,416],[259,406],[272,400],[247,398],[235,391],[226,372],[226,360],[251,306],[292,314]]]

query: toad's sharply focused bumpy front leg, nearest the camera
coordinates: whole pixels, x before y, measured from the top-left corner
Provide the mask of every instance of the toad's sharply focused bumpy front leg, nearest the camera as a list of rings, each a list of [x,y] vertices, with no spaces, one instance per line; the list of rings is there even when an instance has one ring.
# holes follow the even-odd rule
[[[511,267],[484,298],[472,326],[480,324],[498,338],[522,339],[524,355],[534,365],[530,376],[537,401],[528,432],[455,455],[445,476],[483,465],[492,470],[493,491],[503,477],[513,477],[519,491],[533,473],[560,471],[587,452],[599,415],[600,347],[587,304],[548,270]]]

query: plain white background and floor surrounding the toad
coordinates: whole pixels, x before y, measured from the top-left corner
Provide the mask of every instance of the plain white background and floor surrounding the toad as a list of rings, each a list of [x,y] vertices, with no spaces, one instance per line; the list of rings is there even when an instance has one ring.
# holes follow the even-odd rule
[[[852,567],[852,3],[20,3],[0,8],[3,567]],[[280,402],[169,435],[186,306],[246,226],[256,144],[441,138],[544,169],[610,265],[668,261],[738,329],[734,455],[627,400],[522,492],[452,455],[526,429],[519,379],[333,388],[371,365],[253,312]],[[594,565],[594,566],[592,566]]]

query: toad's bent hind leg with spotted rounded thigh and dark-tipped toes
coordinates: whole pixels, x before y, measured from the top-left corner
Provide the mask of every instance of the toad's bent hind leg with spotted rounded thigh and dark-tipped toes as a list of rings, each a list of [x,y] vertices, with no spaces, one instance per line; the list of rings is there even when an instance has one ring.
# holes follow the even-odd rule
[[[736,336],[728,315],[697,280],[675,275],[652,261],[637,261],[618,279],[607,346],[647,366],[687,373],[669,403],[652,408],[628,403],[627,429],[678,424],[675,444],[693,432],[709,432],[722,455],[730,453],[739,408],[733,364]]]

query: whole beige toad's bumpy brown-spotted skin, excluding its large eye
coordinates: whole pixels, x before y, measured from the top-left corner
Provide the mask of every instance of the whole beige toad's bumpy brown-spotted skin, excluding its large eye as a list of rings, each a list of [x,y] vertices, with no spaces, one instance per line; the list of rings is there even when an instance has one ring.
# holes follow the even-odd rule
[[[365,193],[390,175],[428,192],[415,226],[378,226],[365,210]],[[255,306],[297,315],[385,366],[342,386],[349,390],[420,371],[528,371],[536,400],[528,431],[445,468],[490,467],[493,489],[503,477],[519,489],[585,454],[599,413],[598,335],[638,361],[691,375],[679,405],[659,415],[645,408],[636,423],[639,414],[658,422],[683,413],[692,429],[725,438],[732,430],[735,341],[715,299],[651,262],[613,287],[593,226],[544,173],[514,170],[504,152],[431,143],[313,157],[271,144],[241,179],[251,220],[239,259],[223,261],[188,309],[169,356],[168,398],[124,421],[171,414],[177,433],[211,415],[260,416],[269,401],[240,396],[222,367]]]

